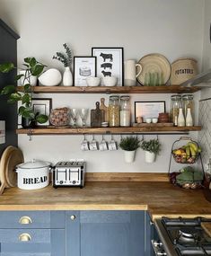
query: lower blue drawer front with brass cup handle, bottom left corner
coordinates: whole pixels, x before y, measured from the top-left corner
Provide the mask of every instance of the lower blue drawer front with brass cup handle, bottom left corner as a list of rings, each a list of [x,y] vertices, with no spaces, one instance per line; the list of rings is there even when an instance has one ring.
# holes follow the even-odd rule
[[[65,229],[0,229],[1,256],[65,256]]]

